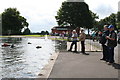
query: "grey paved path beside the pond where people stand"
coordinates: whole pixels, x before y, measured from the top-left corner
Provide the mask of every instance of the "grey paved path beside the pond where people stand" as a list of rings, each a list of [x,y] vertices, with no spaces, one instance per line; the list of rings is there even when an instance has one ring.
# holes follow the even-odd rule
[[[117,63],[118,48],[119,46],[115,49]],[[118,78],[118,70],[120,70],[117,69],[118,64],[107,65],[106,62],[100,61],[101,52],[87,53],[90,55],[60,52],[49,78]]]

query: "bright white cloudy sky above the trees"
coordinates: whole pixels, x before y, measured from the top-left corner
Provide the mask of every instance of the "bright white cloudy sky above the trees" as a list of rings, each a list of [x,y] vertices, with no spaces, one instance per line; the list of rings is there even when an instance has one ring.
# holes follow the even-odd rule
[[[54,16],[63,1],[65,0],[2,0],[0,13],[9,7],[17,8],[27,19],[32,32],[51,31],[52,27],[57,26]],[[89,5],[90,10],[99,15],[100,19],[118,11],[119,0],[84,1]]]

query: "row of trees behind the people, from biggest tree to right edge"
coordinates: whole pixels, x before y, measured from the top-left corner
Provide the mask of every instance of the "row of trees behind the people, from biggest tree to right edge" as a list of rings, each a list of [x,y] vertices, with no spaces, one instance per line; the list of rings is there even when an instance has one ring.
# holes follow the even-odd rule
[[[59,26],[82,27],[93,30],[102,30],[104,25],[112,24],[115,29],[120,29],[120,12],[112,13],[109,17],[99,19],[99,16],[89,10],[85,2],[63,2],[55,16]]]

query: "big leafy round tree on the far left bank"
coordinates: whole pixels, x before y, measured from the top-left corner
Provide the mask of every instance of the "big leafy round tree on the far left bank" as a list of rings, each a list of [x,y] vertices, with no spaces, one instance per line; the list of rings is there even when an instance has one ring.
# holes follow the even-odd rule
[[[8,8],[2,13],[2,34],[21,34],[24,27],[28,27],[28,22],[16,8]]]

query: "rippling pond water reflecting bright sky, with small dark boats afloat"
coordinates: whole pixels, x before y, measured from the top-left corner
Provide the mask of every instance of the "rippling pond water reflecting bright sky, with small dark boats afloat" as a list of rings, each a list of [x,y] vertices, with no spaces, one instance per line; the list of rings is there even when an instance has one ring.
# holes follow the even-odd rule
[[[15,47],[0,46],[0,78],[37,77],[53,53],[66,49],[64,42],[39,38],[1,38],[0,45],[3,43]]]

